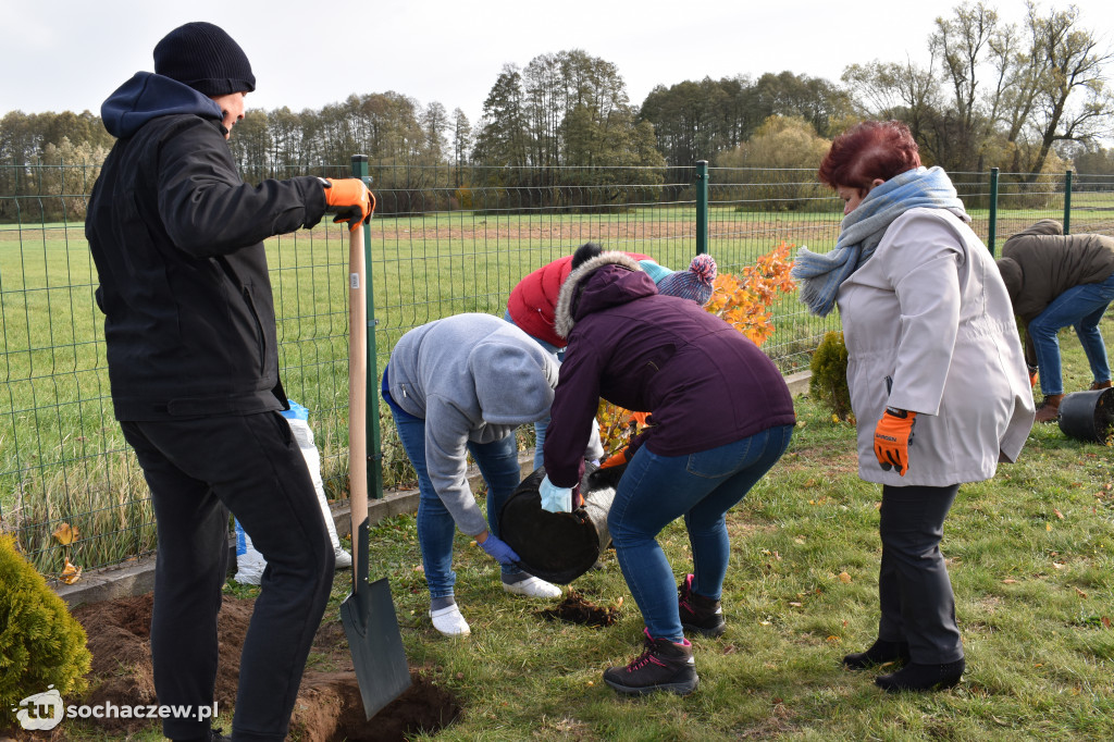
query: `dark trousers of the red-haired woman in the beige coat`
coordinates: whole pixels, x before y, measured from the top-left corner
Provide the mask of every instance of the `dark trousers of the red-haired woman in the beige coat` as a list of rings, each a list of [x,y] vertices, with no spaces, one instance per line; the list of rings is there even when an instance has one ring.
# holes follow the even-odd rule
[[[882,487],[878,638],[908,642],[917,664],[964,656],[951,580],[940,554],[944,519],[958,491],[959,485]]]

